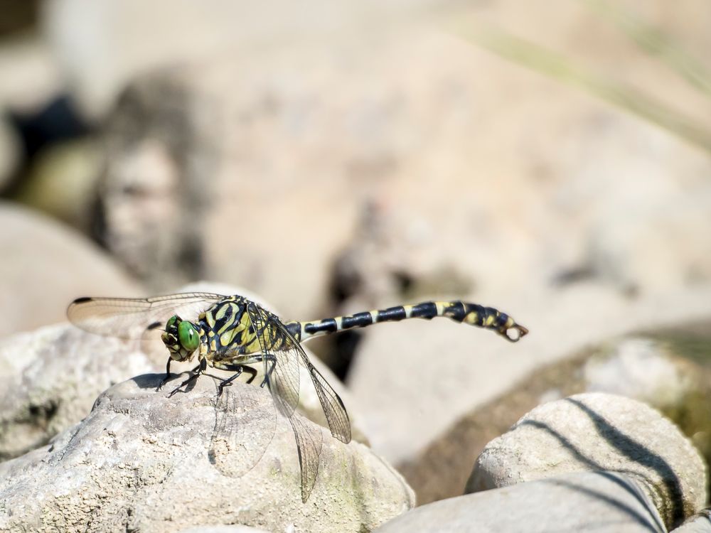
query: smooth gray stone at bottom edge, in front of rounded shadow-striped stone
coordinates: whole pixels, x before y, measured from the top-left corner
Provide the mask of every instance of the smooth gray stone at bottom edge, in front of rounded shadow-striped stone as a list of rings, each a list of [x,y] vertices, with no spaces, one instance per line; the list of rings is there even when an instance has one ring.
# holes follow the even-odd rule
[[[611,472],[560,475],[429,503],[378,533],[665,533],[634,478]]]

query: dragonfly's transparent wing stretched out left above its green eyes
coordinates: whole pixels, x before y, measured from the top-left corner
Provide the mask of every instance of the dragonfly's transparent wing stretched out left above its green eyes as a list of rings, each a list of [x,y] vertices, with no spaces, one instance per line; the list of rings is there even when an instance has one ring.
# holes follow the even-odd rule
[[[146,329],[162,328],[172,315],[190,320],[224,298],[205,292],[151,298],[77,298],[67,308],[67,318],[90,333],[141,338]]]

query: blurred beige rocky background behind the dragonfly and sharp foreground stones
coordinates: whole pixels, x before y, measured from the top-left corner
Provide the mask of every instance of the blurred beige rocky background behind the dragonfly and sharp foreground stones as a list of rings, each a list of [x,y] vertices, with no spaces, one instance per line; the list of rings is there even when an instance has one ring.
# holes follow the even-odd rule
[[[196,280],[299,320],[463,298],[530,335],[314,345],[419,502],[581,388],[711,455],[706,1],[0,5],[6,335]]]

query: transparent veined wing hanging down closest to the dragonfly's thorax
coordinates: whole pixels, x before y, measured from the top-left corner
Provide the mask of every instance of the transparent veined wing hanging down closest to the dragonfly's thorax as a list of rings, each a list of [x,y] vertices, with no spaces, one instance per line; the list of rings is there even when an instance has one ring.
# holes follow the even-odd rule
[[[264,355],[264,375],[279,412],[291,418],[299,404],[299,343],[279,319],[254,302],[247,304]],[[290,340],[291,338],[291,340]],[[275,364],[274,364],[275,363]],[[273,365],[273,367],[272,367]]]

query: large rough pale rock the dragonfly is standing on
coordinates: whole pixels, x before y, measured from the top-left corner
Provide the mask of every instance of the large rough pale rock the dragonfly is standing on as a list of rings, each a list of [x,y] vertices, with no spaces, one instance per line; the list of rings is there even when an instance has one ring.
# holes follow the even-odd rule
[[[221,427],[213,379],[168,398],[155,392],[162,377],[108,389],[52,446],[0,465],[0,529],[173,532],[245,524],[360,532],[414,505],[412,490],[369,448],[344,445],[308,421],[324,440],[316,485],[303,504],[294,434],[267,391],[238,383],[226,389],[239,402],[225,448],[224,438],[213,439]]]

